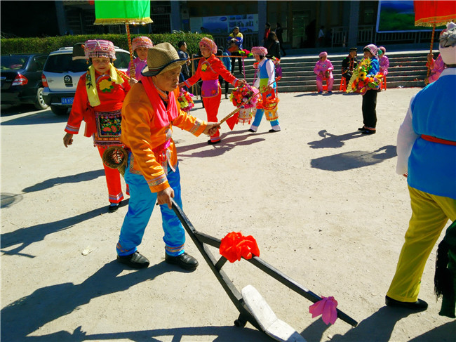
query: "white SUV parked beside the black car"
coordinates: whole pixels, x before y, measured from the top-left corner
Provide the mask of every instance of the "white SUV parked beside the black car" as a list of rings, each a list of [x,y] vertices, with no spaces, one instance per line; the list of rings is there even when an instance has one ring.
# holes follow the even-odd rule
[[[114,67],[126,71],[130,63],[130,53],[118,47],[115,47],[115,50]],[[59,48],[49,54],[44,65],[41,77],[44,86],[43,98],[56,115],[65,115],[72,107],[79,78],[87,71],[86,60],[72,58],[73,47]]]

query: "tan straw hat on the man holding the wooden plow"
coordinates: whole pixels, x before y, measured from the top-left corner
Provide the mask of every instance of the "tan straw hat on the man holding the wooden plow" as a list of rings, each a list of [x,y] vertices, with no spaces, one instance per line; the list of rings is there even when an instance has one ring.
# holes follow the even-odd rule
[[[142,76],[156,76],[185,63],[187,63],[187,59],[179,58],[179,54],[171,44],[156,44],[147,50],[147,67],[142,70],[141,74]]]

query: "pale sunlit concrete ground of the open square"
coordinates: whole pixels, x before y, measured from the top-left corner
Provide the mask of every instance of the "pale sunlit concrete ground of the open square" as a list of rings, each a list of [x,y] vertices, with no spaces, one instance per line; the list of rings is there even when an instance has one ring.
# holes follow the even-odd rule
[[[253,235],[260,257],[354,318],[326,326],[306,298],[246,261],[224,265],[240,290],[252,284],[307,341],[455,341],[438,315],[436,251],[422,277],[423,313],[384,306],[410,218],[406,180],[395,173],[396,134],[419,88],[377,99],[377,134],[364,136],[361,96],[280,93],[282,131],[248,125],[209,146],[175,128],[184,211],[196,230]],[[233,110],[222,99],[219,118]],[[205,118],[201,102],[192,111]],[[62,144],[67,117],[1,112],[1,341],[271,341],[238,317],[192,240],[195,272],[164,262],[154,211],[139,250],[149,268],[115,261],[128,210],[107,213],[98,152],[82,135]],[[128,197],[127,197],[128,198]],[[211,249],[215,256],[216,249]]]

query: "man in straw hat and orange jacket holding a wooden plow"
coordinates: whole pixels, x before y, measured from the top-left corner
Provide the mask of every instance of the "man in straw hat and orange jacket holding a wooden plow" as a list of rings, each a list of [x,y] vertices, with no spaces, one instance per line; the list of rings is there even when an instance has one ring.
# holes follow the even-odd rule
[[[122,107],[121,141],[128,150],[125,180],[130,187],[128,213],[123,220],[117,260],[132,268],[146,268],[149,260],[138,252],[147,223],[157,202],[165,233],[165,261],[194,270],[198,261],[184,251],[185,230],[171,206],[182,207],[180,173],[173,139],[173,126],[195,136],[213,134],[220,123],[201,121],[180,110],[177,96],[179,58],[169,43],[149,48],[142,79],[133,85]]]

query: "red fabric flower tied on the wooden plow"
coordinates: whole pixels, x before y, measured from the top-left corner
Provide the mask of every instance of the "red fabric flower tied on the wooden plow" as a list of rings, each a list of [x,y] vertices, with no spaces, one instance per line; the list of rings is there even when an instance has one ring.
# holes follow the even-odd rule
[[[245,237],[240,232],[229,232],[220,242],[220,254],[234,263],[240,261],[241,257],[250,259],[260,256],[260,249],[252,235]]]

